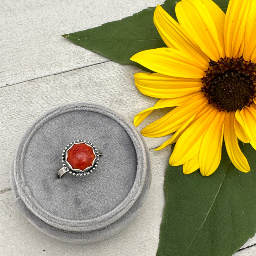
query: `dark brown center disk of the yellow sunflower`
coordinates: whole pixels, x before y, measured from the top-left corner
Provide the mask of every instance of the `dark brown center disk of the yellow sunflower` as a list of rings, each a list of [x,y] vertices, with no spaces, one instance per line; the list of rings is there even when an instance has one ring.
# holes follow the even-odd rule
[[[241,110],[256,96],[256,65],[244,58],[211,60],[202,78],[202,92],[220,111]]]

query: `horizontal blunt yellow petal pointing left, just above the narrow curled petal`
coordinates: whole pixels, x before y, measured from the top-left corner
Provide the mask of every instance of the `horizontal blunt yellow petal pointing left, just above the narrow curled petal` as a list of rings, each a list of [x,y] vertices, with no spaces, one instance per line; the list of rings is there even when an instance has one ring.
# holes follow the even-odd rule
[[[155,98],[177,98],[201,91],[200,79],[176,78],[158,73],[134,74],[135,85],[143,94]]]

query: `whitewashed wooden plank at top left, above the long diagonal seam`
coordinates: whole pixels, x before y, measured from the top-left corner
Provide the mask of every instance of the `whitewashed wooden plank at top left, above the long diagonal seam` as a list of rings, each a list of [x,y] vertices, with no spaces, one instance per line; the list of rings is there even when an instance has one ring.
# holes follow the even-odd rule
[[[0,87],[106,61],[61,34],[131,16],[163,0],[0,0]]]

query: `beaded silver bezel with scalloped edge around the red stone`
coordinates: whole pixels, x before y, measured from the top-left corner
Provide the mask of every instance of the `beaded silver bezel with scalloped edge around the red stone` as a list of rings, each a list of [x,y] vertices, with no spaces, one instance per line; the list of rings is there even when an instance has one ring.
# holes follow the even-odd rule
[[[66,161],[67,151],[71,148],[71,146],[73,146],[74,144],[78,144],[78,143],[85,143],[86,145],[90,146],[93,149],[94,154],[95,154],[95,159],[94,159],[92,166],[87,167],[85,170],[72,169],[69,162]],[[64,148],[63,153],[62,153],[62,165],[65,168],[65,170],[73,176],[86,176],[86,175],[92,173],[98,165],[98,160],[99,160],[99,154],[98,154],[96,147],[91,142],[89,142],[87,140],[74,140],[73,142],[70,142]]]

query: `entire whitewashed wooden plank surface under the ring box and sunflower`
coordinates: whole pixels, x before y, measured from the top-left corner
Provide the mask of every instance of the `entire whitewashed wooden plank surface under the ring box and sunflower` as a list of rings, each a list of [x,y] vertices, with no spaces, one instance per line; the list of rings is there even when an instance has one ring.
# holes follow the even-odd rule
[[[153,256],[158,247],[164,207],[164,171],[170,147],[151,151],[152,183],[144,206],[120,234],[91,245],[51,239],[16,212],[9,172],[19,139],[42,113],[71,102],[112,108],[130,121],[156,100],[140,94],[133,74],[119,65],[75,46],[60,34],[118,20],[162,4],[163,0],[0,0],[0,256],[86,255]],[[77,100],[79,99],[79,100]],[[156,112],[156,118],[160,113]],[[147,121],[150,122],[150,121]],[[149,148],[164,138],[146,138]],[[256,237],[235,256],[256,254]],[[247,247],[247,248],[246,248]]]

